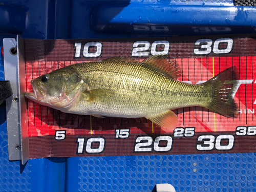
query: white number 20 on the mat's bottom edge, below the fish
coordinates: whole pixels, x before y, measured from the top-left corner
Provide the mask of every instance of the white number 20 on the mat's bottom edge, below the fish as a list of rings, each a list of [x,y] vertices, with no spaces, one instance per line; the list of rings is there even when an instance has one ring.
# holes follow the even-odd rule
[[[135,140],[134,152],[169,152],[172,150],[173,138],[170,136],[158,136],[155,138],[150,136],[140,136]]]

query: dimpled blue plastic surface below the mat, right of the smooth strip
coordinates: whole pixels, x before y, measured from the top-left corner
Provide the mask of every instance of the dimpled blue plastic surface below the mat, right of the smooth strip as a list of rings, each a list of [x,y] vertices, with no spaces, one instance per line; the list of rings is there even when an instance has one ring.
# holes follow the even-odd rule
[[[256,191],[256,153],[79,159],[80,191]]]

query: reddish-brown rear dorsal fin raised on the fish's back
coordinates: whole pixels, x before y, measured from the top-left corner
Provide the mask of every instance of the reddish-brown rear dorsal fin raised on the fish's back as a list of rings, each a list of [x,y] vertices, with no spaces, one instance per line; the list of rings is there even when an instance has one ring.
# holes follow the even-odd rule
[[[175,59],[165,59],[164,55],[153,55],[152,57],[145,59],[142,63],[154,66],[160,69],[164,73],[168,74],[173,79],[178,78],[181,73]]]

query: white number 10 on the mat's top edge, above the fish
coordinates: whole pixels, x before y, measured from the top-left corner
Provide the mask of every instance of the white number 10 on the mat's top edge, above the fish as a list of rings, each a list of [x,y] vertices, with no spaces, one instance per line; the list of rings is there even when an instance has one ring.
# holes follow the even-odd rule
[[[75,45],[75,58],[81,57],[81,48],[82,48],[82,43],[81,42],[76,42]],[[90,48],[94,47],[95,50],[93,52],[90,52]],[[83,47],[83,56],[84,57],[98,57],[102,53],[102,44],[100,42],[87,42],[86,45]]]

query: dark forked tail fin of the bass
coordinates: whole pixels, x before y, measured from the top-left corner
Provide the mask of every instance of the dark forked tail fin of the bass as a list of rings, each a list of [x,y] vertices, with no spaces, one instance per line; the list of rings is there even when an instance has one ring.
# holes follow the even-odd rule
[[[203,83],[211,90],[211,101],[206,108],[225,117],[237,118],[237,104],[230,92],[233,86],[237,86],[233,81],[237,79],[237,68],[233,66]]]

